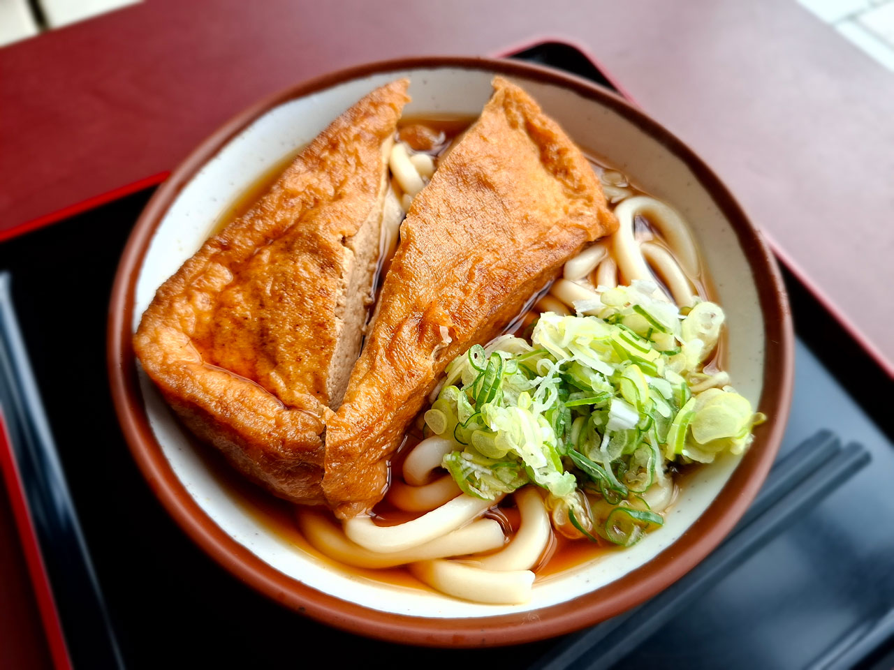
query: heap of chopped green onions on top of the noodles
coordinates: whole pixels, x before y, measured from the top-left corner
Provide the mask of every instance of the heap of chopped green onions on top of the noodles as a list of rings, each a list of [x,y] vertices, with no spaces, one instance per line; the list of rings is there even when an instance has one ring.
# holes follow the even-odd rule
[[[666,461],[747,448],[763,415],[727,377],[704,373],[720,307],[681,314],[658,293],[642,281],[607,289],[587,310],[596,315],[544,313],[530,343],[505,335],[451,361],[424,418],[426,434],[455,443],[443,466],[460,489],[495,499],[532,482],[578,532],[628,546],[662,523],[642,496]],[[585,492],[603,511],[593,532],[579,523]]]

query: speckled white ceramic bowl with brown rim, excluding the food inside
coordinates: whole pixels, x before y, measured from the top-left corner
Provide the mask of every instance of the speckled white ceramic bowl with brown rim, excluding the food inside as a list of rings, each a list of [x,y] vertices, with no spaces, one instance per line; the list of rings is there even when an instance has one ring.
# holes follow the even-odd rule
[[[158,286],[192,255],[238,195],[385,82],[411,80],[405,116],[475,115],[502,74],[580,147],[684,215],[729,322],[728,369],[769,419],[741,457],[687,481],[664,526],[636,546],[538,580],[533,599],[497,606],[344,572],[263,523],[252,498],[208,466],[139,369],[131,336]],[[158,189],[133,230],[114,285],[109,369],[117,412],[164,507],[243,582],[316,619],[392,641],[510,644],[569,632],[634,607],[679,579],[730,532],[772,464],[789,411],[792,331],[779,270],[730,192],[678,138],[619,96],[558,71],[507,61],[374,63],[300,84],[240,113]]]

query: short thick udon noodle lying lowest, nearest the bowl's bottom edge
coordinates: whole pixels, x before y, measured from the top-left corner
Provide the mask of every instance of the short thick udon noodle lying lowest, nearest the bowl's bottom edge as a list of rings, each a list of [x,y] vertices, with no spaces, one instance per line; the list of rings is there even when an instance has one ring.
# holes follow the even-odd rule
[[[412,563],[410,572],[443,593],[494,605],[521,605],[531,599],[534,573],[513,570],[499,573],[461,561],[434,560]]]

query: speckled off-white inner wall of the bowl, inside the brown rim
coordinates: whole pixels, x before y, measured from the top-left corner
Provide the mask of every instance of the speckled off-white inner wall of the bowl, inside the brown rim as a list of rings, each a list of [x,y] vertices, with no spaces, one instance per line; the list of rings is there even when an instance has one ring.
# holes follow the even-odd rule
[[[181,190],[148,247],[139,272],[133,328],[156,289],[195,253],[234,197],[283,156],[305,145],[367,92],[407,76],[412,103],[405,115],[474,115],[490,96],[493,73],[436,69],[393,71],[351,80],[279,105],[254,121]],[[518,79],[578,142],[638,185],[676,207],[690,223],[729,323],[728,366],[739,392],[756,406],[763,380],[763,315],[745,255],[730,222],[686,164],[643,130],[597,102],[551,84]],[[340,572],[258,523],[215,479],[156,388],[140,371],[149,423],[174,473],[201,507],[233,540],[291,578],[337,598],[409,616],[493,616],[533,610],[576,598],[618,580],[667,548],[702,515],[738,465],[728,457],[703,467],[687,481],[664,526],[636,546],[536,582],[521,606],[462,602],[425,590],[395,587]]]

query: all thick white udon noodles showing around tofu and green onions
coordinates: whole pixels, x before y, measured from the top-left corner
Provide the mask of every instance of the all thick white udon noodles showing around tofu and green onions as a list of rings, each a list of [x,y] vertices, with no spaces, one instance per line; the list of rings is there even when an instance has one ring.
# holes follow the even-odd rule
[[[436,124],[409,124],[401,130],[389,165],[394,198],[403,212],[431,179],[438,156],[449,151],[450,144],[449,133]],[[594,168],[620,228],[569,260],[561,277],[515,322],[517,329],[529,328],[541,313],[595,314],[605,291],[633,281],[652,282],[656,296],[681,310],[709,298],[695,239],[680,214],[632,187],[620,172],[598,164]],[[385,255],[393,251],[398,235],[399,227],[384,230]],[[718,337],[716,331],[705,336],[703,364],[712,356],[713,360],[705,364],[700,381],[692,386],[694,392],[719,389],[730,381],[719,369]],[[485,355],[495,347],[495,343],[486,346]],[[452,378],[448,375],[430,399],[438,398],[444,384],[456,381],[455,373]],[[571,507],[551,503],[544,489],[534,484],[493,500],[463,493],[443,469],[444,456],[456,448],[453,440],[421,437],[419,430],[413,431],[392,464],[390,489],[383,503],[391,508],[390,514],[383,516],[380,506],[373,515],[340,525],[315,509],[299,508],[300,531],[313,547],[344,565],[407,565],[418,580],[456,598],[491,603],[527,601],[536,570],[548,560],[553,533],[569,539],[588,533],[578,527]],[[604,496],[591,490],[578,490],[576,495],[587,498],[594,515],[611,515]],[[637,498],[651,513],[661,515],[675,496],[673,473],[659,466],[654,481]],[[510,515],[503,512],[513,508],[510,522]]]

